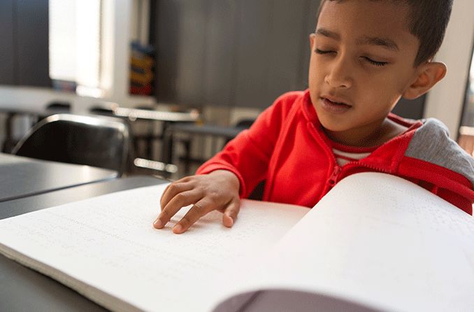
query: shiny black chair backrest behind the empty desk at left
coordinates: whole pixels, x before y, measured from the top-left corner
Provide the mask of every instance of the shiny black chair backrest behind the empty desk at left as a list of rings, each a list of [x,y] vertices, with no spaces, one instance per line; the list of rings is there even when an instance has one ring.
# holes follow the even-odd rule
[[[34,125],[12,153],[112,169],[122,176],[129,140],[129,129],[120,118],[57,114]]]

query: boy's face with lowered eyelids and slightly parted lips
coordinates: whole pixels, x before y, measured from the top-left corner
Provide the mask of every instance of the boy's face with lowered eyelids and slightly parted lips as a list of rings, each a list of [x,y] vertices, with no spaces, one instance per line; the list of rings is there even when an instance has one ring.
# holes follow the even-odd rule
[[[383,131],[385,118],[417,80],[419,41],[408,7],[392,1],[327,1],[310,36],[309,87],[318,118],[341,143]],[[338,104],[344,103],[344,104]]]

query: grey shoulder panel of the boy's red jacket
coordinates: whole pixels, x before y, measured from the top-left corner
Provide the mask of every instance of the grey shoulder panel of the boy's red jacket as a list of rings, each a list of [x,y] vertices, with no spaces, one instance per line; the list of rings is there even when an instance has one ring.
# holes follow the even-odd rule
[[[415,130],[405,156],[437,164],[457,172],[474,185],[474,159],[454,140],[447,127],[435,118],[422,120]]]

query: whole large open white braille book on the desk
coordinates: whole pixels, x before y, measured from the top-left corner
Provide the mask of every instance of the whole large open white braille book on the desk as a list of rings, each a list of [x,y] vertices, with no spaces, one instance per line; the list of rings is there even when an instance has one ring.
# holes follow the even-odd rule
[[[474,311],[474,218],[383,173],[313,208],[153,229],[166,185],[0,220],[0,252],[113,311]],[[181,211],[180,215],[184,215]]]

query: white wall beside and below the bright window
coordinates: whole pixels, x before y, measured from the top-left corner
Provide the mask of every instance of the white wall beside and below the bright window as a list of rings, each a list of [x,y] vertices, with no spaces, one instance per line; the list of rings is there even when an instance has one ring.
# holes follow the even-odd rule
[[[102,87],[106,90],[103,99],[79,97],[69,92],[57,92],[50,88],[0,85],[0,108],[17,107],[41,109],[50,101],[69,101],[73,111],[86,112],[100,101],[115,101],[121,106],[151,104],[150,97],[131,97],[129,83],[129,37],[131,29],[131,0],[103,0],[103,68]],[[0,132],[3,129],[0,129]]]

